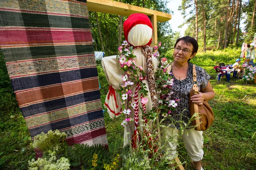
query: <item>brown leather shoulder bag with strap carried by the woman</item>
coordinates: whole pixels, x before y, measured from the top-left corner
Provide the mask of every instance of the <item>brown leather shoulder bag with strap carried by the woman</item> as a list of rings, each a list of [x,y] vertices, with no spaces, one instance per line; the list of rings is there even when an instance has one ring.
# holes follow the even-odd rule
[[[207,101],[204,101],[203,105],[197,105],[196,103],[191,102],[190,100],[191,96],[195,94],[199,94],[198,84],[196,81],[195,65],[193,65],[192,77],[193,77],[193,87],[189,95],[189,112],[190,112],[190,116],[193,116],[194,113],[199,113],[195,118],[196,120],[192,121],[192,125],[193,126],[198,125],[197,127],[195,127],[195,130],[204,131],[204,130],[207,130],[207,128],[212,124],[214,120],[214,114],[211,106],[208,104]],[[198,119],[198,117],[200,118]]]

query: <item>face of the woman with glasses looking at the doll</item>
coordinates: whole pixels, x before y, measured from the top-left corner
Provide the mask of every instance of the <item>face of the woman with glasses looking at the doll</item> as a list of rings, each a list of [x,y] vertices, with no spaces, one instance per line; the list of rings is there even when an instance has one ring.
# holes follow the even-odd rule
[[[184,49],[183,50],[176,50],[174,49],[173,51],[173,57],[174,57],[174,62],[177,62],[179,64],[184,64],[186,62],[188,62],[189,59],[192,59],[196,53],[193,54],[193,45],[191,43],[186,44],[186,42],[184,42],[183,40],[180,40],[177,45],[176,48],[181,48]],[[189,51],[189,52],[188,52]]]

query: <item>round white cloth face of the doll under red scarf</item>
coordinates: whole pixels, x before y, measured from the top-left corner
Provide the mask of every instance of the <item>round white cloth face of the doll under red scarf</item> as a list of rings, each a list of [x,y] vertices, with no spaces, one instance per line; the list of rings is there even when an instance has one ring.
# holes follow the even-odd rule
[[[152,37],[152,28],[145,24],[137,24],[128,33],[128,42],[133,46],[146,45]]]

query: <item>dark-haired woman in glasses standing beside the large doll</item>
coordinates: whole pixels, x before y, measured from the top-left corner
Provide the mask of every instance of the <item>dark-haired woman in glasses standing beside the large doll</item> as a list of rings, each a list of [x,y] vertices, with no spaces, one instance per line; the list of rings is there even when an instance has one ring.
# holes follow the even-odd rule
[[[174,75],[174,85],[172,86],[172,91],[174,92],[172,98],[177,102],[177,110],[172,112],[172,117],[180,121],[182,119],[185,124],[189,122],[191,118],[189,113],[189,93],[192,88],[192,63],[189,62],[190,59],[195,57],[198,51],[198,42],[192,37],[182,37],[177,39],[175,43],[175,49],[173,52],[174,61],[172,62],[170,73]],[[202,105],[204,100],[213,99],[215,92],[209,82],[210,76],[204,71],[203,68],[196,66],[197,82],[199,88],[199,94],[191,97],[192,102]],[[162,138],[173,137],[175,140],[173,142],[167,143],[167,147],[171,150],[168,151],[168,156],[174,159],[177,155],[177,134],[180,131],[180,124],[173,124],[169,119],[165,119],[163,123],[166,127],[161,128]],[[184,125],[185,125],[184,124]],[[168,127],[167,127],[168,126]],[[196,170],[203,170],[201,166],[201,160],[204,155],[203,151],[203,132],[196,131],[194,129],[187,129],[183,133],[183,142],[186,149],[191,157]]]

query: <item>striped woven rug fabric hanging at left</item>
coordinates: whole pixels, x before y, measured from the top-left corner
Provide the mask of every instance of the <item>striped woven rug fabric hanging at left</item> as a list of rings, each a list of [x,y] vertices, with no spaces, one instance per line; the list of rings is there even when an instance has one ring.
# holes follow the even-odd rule
[[[86,0],[1,0],[0,48],[32,137],[108,144]]]

